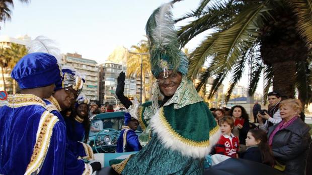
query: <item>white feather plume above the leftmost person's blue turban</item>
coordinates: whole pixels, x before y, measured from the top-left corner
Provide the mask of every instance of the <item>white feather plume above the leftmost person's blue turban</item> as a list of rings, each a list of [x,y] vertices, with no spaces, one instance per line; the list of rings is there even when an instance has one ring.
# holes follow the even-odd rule
[[[35,40],[32,40],[27,49],[28,53],[43,52],[53,55],[58,62],[61,60],[60,50],[57,47],[57,43],[45,36],[38,36]]]

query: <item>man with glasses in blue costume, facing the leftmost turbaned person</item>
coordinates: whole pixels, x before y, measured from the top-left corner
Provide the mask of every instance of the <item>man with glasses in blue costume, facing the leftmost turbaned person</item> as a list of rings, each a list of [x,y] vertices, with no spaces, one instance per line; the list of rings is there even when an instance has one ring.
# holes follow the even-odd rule
[[[81,157],[92,160],[94,158],[92,148],[86,143],[69,139],[68,124],[64,121],[64,118],[60,113],[60,111],[70,108],[70,106],[74,103],[74,101],[77,99],[77,94],[79,94],[83,88],[85,80],[80,76],[77,76],[76,72],[72,69],[62,69],[62,72],[62,79],[56,83],[54,94],[50,98],[44,99],[44,101],[46,103],[46,109],[57,116],[59,120],[61,120],[62,123],[66,125],[67,146],[64,173],[92,174],[93,171],[100,169],[101,165],[99,165],[99,162],[88,164],[85,163],[84,160],[78,159],[78,157]],[[75,129],[79,128],[76,127]]]

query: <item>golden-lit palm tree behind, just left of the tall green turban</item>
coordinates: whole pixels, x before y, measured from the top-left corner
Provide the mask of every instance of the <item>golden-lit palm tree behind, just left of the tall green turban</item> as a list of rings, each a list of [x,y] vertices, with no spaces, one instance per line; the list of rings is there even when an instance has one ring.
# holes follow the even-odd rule
[[[146,40],[142,40],[136,46],[131,46],[131,51],[135,53],[148,53],[148,45]],[[127,58],[127,76],[136,75],[137,77],[141,76],[141,55],[139,54],[129,54]],[[152,74],[150,72],[150,63],[149,55],[142,55],[142,103],[145,102],[145,77],[151,77],[149,81],[149,90],[151,91],[152,85]]]

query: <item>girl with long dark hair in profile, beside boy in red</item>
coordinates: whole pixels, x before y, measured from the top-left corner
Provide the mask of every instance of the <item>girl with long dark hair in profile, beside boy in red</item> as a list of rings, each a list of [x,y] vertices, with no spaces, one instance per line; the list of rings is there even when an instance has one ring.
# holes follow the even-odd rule
[[[272,166],[274,164],[273,152],[268,144],[267,134],[261,129],[252,129],[247,133],[244,159],[258,161]]]

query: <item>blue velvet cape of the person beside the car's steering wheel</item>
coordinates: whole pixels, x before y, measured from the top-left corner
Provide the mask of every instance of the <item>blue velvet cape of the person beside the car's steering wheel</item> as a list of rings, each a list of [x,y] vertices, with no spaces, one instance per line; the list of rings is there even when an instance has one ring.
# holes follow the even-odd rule
[[[126,147],[125,151],[123,150],[123,135],[126,132]],[[130,128],[124,128],[120,132],[118,141],[117,141],[117,148],[116,152],[131,152],[131,151],[139,151],[142,149],[142,146],[140,145],[138,135],[134,132],[134,130]]]

